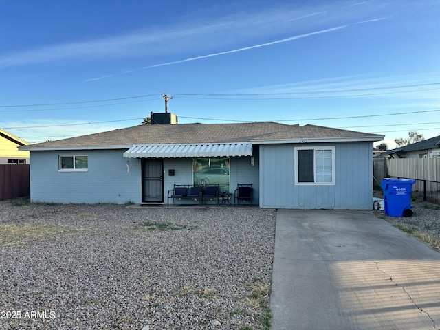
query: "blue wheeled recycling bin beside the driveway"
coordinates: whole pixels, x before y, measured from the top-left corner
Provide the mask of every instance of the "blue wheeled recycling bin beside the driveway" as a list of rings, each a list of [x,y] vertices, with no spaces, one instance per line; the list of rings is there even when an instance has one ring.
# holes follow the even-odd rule
[[[415,180],[385,178],[380,183],[384,190],[385,214],[390,217],[412,216],[411,191]]]

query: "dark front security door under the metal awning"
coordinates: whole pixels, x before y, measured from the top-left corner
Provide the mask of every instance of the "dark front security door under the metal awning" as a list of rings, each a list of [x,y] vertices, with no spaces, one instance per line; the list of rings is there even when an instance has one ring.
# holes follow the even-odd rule
[[[163,159],[142,159],[142,202],[164,202],[164,162]]]

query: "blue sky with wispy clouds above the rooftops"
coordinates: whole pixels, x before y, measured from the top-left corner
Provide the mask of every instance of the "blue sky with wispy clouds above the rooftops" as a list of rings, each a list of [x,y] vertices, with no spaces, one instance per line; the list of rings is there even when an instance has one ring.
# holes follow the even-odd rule
[[[276,121],[440,134],[440,1],[0,0],[0,127],[28,142]],[[39,105],[41,104],[41,105]]]

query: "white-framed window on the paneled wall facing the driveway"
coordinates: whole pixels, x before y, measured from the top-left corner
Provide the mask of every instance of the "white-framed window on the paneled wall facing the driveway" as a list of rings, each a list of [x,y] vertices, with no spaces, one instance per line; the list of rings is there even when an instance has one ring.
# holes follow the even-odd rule
[[[334,185],[335,147],[296,147],[295,170],[297,185]]]

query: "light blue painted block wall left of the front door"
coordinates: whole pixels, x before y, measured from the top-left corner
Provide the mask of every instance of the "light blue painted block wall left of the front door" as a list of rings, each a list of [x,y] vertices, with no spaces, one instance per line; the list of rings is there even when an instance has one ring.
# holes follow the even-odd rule
[[[122,157],[115,151],[31,151],[30,194],[32,202],[47,203],[140,203],[140,159]],[[59,155],[89,156],[87,172],[58,170]],[[127,161],[130,170],[127,172]]]

